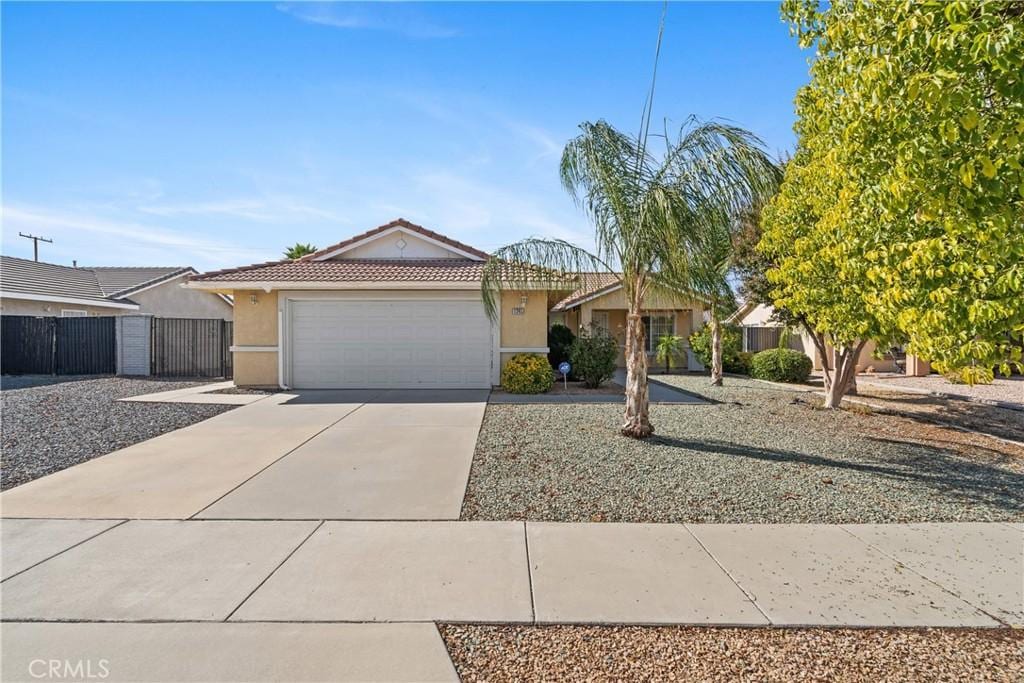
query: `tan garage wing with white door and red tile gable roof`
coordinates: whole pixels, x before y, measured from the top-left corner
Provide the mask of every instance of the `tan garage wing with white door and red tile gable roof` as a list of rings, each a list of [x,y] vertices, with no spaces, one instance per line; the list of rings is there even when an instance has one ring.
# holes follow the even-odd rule
[[[233,296],[239,385],[489,388],[515,353],[547,353],[549,293],[504,291],[492,322],[480,297],[486,259],[398,219],[188,287]]]

